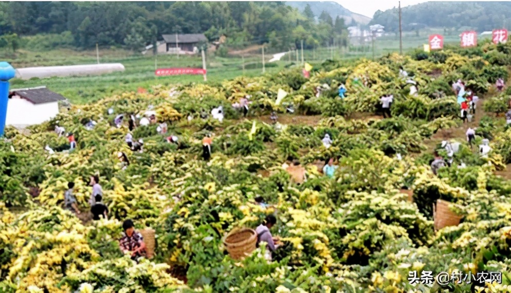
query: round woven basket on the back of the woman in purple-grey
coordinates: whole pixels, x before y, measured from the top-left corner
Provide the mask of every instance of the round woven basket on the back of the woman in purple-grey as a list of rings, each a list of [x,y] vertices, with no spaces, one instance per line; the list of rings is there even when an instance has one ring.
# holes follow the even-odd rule
[[[233,230],[225,236],[224,245],[231,258],[239,260],[255,250],[257,233],[248,228]]]

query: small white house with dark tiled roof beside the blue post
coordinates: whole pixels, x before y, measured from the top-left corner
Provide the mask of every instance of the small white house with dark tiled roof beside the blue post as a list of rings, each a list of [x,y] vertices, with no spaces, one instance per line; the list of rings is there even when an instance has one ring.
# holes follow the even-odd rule
[[[24,127],[50,120],[59,114],[62,100],[65,98],[45,86],[11,89],[5,124]]]

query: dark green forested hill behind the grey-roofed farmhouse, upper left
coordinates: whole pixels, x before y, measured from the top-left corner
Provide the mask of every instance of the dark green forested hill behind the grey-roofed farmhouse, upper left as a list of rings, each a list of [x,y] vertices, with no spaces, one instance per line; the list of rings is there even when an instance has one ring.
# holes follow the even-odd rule
[[[210,41],[225,34],[232,44],[282,49],[299,40],[313,46],[346,35],[343,22],[316,21],[284,2],[0,2],[0,47],[15,47],[9,44],[15,33],[39,35],[35,45],[92,48],[98,43],[138,50],[176,32],[205,33]]]

